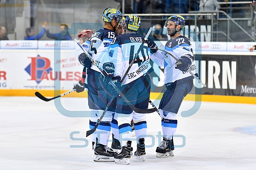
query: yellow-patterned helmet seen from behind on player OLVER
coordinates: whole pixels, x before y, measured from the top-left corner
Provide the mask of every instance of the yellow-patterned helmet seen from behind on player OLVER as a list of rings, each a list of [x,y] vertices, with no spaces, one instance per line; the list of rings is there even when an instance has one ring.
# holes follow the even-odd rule
[[[139,29],[139,26],[141,25],[141,18],[137,15],[128,15],[125,18],[125,28],[130,31],[137,32]]]

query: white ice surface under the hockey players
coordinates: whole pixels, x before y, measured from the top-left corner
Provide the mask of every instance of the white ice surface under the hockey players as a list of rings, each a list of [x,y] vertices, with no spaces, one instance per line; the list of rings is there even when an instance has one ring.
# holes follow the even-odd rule
[[[62,97],[61,103],[68,110],[88,108],[86,98]],[[184,101],[180,111],[192,106],[193,102]],[[256,126],[256,105],[202,102],[197,113],[181,117],[179,112],[177,119],[176,135],[186,137],[186,144],[175,148],[174,157],[156,157],[161,120],[150,113],[148,135],[154,136],[155,144],[146,148],[145,162],[132,156],[130,165],[96,163],[91,139],[85,137],[88,118],[65,117],[54,101],[0,97],[0,170],[256,170],[256,135],[236,132]],[[70,148],[85,144],[70,139],[74,131],[80,133],[73,137],[86,138],[89,146]],[[146,145],[150,144],[152,139],[147,138]],[[174,145],[182,145],[182,138],[175,137]],[[136,147],[134,141],[132,146]]]

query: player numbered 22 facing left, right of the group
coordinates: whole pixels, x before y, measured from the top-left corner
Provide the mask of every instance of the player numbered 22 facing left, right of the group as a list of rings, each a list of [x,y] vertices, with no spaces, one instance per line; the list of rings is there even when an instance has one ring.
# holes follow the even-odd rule
[[[170,16],[166,22],[168,35],[171,39],[165,44],[165,51],[154,53],[151,59],[159,66],[164,66],[164,83],[167,88],[160,101],[159,111],[161,116],[161,125],[163,131],[163,141],[160,146],[156,148],[156,157],[173,156],[173,149],[171,147],[172,137],[176,132],[177,119],[176,115],[180,108],[184,97],[193,88],[194,77],[187,72],[189,69],[193,74],[195,71],[195,61],[193,57],[193,50],[189,40],[180,34],[180,31],[185,27],[185,19],[180,15]],[[171,55],[182,62],[180,65],[175,65],[178,62],[174,60]]]

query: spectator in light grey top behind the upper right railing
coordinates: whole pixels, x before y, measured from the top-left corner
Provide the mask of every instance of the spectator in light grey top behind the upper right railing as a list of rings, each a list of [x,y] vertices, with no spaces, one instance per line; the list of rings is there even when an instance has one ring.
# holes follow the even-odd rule
[[[217,0],[200,0],[199,11],[217,11],[220,7]],[[211,19],[211,16],[199,16],[199,19],[202,18]]]

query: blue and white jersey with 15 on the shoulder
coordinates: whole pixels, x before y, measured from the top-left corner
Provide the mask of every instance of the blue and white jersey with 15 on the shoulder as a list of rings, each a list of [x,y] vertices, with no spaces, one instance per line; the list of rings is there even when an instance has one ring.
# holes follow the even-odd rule
[[[93,60],[98,63],[100,68],[102,68],[103,64],[101,62],[103,56],[101,53],[108,52],[109,45],[116,36],[117,34],[114,31],[107,28],[102,28],[96,31],[87,41],[82,44],[83,48],[91,54]],[[84,53],[83,50],[77,46],[74,55],[78,58],[81,53]],[[91,66],[91,69],[100,72],[100,70],[94,65]]]

